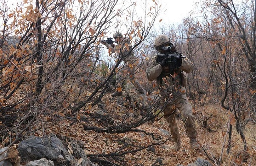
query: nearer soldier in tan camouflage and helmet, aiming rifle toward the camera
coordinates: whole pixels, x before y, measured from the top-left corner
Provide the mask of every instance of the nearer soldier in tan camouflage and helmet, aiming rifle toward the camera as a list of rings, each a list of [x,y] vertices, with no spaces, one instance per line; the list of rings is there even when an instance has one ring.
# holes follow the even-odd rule
[[[182,121],[186,128],[186,134],[190,139],[191,148],[193,150],[199,149],[199,144],[196,141],[197,132],[192,115],[192,106],[188,101],[185,89],[187,81],[186,73],[192,71],[193,64],[188,58],[176,52],[174,42],[167,35],[161,34],[157,36],[154,40],[154,48],[160,54],[153,57],[146,73],[149,81],[157,79],[161,94],[160,105],[164,110],[164,118],[169,123],[171,139],[175,141],[175,144],[171,146],[171,150],[179,151],[181,146],[181,138],[175,119],[177,108],[181,112]],[[166,56],[168,53],[174,53],[178,56],[168,59]],[[165,58],[162,60],[162,57]]]

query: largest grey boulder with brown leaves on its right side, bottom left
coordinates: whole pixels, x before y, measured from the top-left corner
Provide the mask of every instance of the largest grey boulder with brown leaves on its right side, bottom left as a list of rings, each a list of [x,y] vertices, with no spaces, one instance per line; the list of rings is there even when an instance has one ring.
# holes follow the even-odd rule
[[[68,137],[59,137],[61,138],[49,134],[42,138],[30,136],[23,140],[17,148],[21,160],[26,162],[45,158],[53,161],[54,166],[98,166],[89,161],[81,148],[83,146],[81,142]]]

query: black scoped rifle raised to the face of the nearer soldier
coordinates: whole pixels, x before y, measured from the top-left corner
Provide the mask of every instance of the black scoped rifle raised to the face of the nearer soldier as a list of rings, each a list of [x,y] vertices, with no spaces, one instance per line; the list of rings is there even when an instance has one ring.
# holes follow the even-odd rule
[[[164,51],[164,54],[157,54],[157,62],[160,63],[165,59],[168,62],[168,67],[164,68],[163,73],[169,74],[175,70],[177,70],[181,66],[181,58],[185,58],[181,53],[176,52],[174,46],[164,46],[160,48]]]

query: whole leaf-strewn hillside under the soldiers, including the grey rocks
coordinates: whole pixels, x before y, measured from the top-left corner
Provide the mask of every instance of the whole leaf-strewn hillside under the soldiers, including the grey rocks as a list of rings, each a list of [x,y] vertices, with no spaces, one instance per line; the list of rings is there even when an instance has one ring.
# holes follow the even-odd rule
[[[25,141],[14,145],[15,149],[19,151],[19,154],[16,155],[16,157],[19,156],[19,160],[14,161],[21,161],[21,164],[25,165],[27,161],[46,158],[54,161],[55,165],[63,166],[89,166],[93,163],[102,166],[188,166],[189,164],[192,166],[196,163],[197,166],[209,166],[210,164],[214,166],[218,165],[222,155],[220,165],[223,166],[255,165],[255,124],[249,124],[249,127],[245,129],[247,151],[243,151],[241,138],[233,130],[231,153],[226,154],[227,122],[231,122],[229,115],[225,113],[226,110],[218,105],[194,106],[193,113],[196,117],[201,149],[198,151],[190,149],[189,139],[185,134],[178,112],[177,123],[182,144],[179,151],[172,152],[170,147],[174,142],[170,139],[167,123],[164,118],[161,118],[162,112],[159,111],[159,115],[154,117],[154,115],[147,115],[147,112],[143,110],[146,107],[145,101],[151,100],[149,98],[152,99],[152,96],[141,96],[132,92],[124,93],[123,96],[116,98],[106,95],[96,107],[81,110],[76,115],[59,111],[55,111],[55,117],[50,117],[47,114],[40,115],[42,123],[34,126],[35,132],[30,133],[30,137],[27,137]],[[88,119],[90,114],[98,115],[98,118],[94,119],[95,122]],[[132,126],[136,120],[141,122],[146,117],[153,117],[153,119],[149,118],[147,122],[136,128],[122,128],[122,125],[117,128],[118,124],[115,125],[117,119],[113,115],[116,115],[119,120],[124,120],[120,118],[122,116],[126,116],[126,120],[130,118],[130,124],[125,124],[123,127]],[[54,141],[49,141],[49,138],[58,138],[60,141],[51,144]],[[36,149],[30,147],[30,145],[34,145],[31,140],[37,140],[37,144],[40,141],[49,141],[50,143],[44,144],[44,146],[50,147],[50,149],[46,148],[44,151],[56,151],[56,154],[32,153],[34,156],[31,157],[31,149]],[[60,149],[56,150],[56,148]],[[27,154],[30,154],[30,157]],[[66,157],[63,159],[56,157],[60,154]],[[55,157],[53,157],[54,155]],[[70,160],[65,160],[66,158]],[[90,163],[87,158],[91,161]],[[7,158],[3,157],[0,161],[3,159]],[[201,160],[202,162],[200,162]]]

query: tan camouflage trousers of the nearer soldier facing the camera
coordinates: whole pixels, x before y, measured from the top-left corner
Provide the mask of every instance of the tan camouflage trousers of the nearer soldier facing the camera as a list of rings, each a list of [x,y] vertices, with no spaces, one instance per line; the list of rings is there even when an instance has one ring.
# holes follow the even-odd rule
[[[186,134],[191,140],[196,140],[197,132],[194,122],[194,117],[192,115],[192,106],[188,101],[185,93],[186,89],[181,88],[181,92],[178,94],[174,93],[174,96],[170,102],[166,102],[166,98],[162,99],[164,105],[164,118],[169,123],[169,129],[172,135],[172,139],[175,142],[180,141],[179,129],[176,123],[176,109],[178,108],[181,112],[182,121],[184,122],[184,127],[186,129]]]

